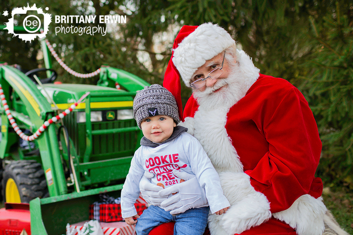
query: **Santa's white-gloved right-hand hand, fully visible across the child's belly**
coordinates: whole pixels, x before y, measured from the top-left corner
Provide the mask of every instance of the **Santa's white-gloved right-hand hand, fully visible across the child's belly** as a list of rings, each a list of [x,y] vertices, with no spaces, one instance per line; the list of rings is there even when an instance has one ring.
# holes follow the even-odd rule
[[[195,175],[175,169],[173,170],[173,174],[179,179],[186,181],[172,185],[159,192],[160,197],[169,195],[168,199],[161,203],[164,210],[170,211],[170,214],[174,215],[183,213],[191,208],[208,205],[205,189],[201,188]],[[172,195],[172,193],[177,194]]]

